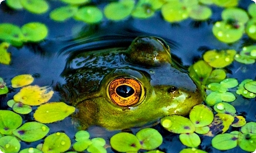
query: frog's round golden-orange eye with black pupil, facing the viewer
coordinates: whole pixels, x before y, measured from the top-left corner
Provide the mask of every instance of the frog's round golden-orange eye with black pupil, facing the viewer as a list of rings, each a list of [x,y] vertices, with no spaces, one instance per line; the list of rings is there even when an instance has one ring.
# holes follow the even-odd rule
[[[144,95],[141,84],[132,78],[117,78],[109,86],[109,97],[118,106],[137,104]]]

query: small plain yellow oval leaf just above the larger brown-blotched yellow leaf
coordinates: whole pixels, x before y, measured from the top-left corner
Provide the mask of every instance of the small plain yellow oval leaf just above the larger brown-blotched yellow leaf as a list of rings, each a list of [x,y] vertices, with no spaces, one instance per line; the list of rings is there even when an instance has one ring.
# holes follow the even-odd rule
[[[12,78],[11,83],[13,88],[19,88],[23,86],[30,85],[34,81],[31,74],[17,75]]]

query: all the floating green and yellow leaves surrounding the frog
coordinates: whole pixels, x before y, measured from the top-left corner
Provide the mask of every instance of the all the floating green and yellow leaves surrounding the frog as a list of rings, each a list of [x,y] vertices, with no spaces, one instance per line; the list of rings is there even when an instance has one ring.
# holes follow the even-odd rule
[[[246,33],[253,41],[256,40],[256,5],[251,4],[247,12],[238,8],[238,0],[122,0],[107,4],[104,9],[93,6],[90,0],[61,0],[63,6],[49,12],[56,22],[73,18],[87,24],[98,24],[103,20],[120,21],[133,18],[150,18],[157,11],[161,12],[167,22],[181,22],[187,18],[208,20],[212,15],[211,6],[223,7],[222,20],[212,26],[212,35],[224,43],[233,43]],[[6,4],[15,10],[25,9],[31,13],[42,14],[49,11],[45,0],[6,0]],[[0,63],[9,65],[11,55],[8,47],[22,47],[28,42],[37,43],[48,36],[48,28],[44,23],[30,22],[21,28],[11,23],[0,24]],[[202,90],[205,97],[204,105],[195,106],[189,118],[171,115],[161,119],[161,125],[167,131],[179,134],[182,144],[188,148],[180,152],[206,152],[199,149],[201,136],[211,136],[212,147],[228,150],[239,146],[245,151],[256,149],[256,123],[246,122],[232,106],[232,101],[239,96],[255,98],[256,81],[246,79],[239,83],[237,79],[228,77],[226,66],[233,62],[253,64],[256,59],[256,45],[244,46],[242,50],[210,49],[202,55],[202,60],[189,67],[189,75]],[[2,76],[1,76],[2,77]],[[48,102],[54,91],[51,87],[31,85],[34,78],[31,74],[17,75],[6,84],[0,78],[0,94],[8,94],[9,89],[21,88],[7,102],[10,110],[0,110],[0,149],[3,152],[106,152],[110,147],[102,138],[90,139],[87,131],[78,131],[75,142],[65,132],[50,133],[48,123],[65,119],[75,112],[75,108],[63,102]],[[8,89],[9,88],[9,89]],[[236,91],[236,92],[233,92]],[[12,109],[12,111],[11,111]],[[34,121],[24,122],[24,114]],[[232,131],[232,127],[236,130]],[[36,148],[20,150],[20,141],[40,141]],[[151,128],[140,130],[136,135],[121,132],[110,138],[110,145],[120,152],[161,152],[161,134]],[[71,148],[72,146],[72,148]]]

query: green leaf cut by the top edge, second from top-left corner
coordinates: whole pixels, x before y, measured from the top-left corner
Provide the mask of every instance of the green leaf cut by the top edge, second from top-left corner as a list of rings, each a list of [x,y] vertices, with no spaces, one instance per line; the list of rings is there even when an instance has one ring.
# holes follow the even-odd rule
[[[49,6],[45,0],[19,0],[22,6],[31,13],[41,14],[48,11]]]

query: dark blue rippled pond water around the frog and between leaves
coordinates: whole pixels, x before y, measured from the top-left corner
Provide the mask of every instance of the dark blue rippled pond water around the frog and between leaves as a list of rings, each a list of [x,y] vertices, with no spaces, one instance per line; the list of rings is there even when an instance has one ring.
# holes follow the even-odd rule
[[[99,8],[105,6],[104,1],[94,1]],[[247,10],[249,0],[241,0],[239,7]],[[62,6],[59,1],[49,1],[51,9]],[[211,6],[213,15],[207,21],[194,21],[186,19],[179,23],[169,23],[163,20],[160,12],[157,12],[149,19],[128,18],[122,21],[109,21],[104,19],[100,24],[86,24],[81,21],[70,19],[66,22],[55,22],[49,18],[49,13],[42,15],[32,14],[26,10],[15,11],[6,6],[0,5],[0,23],[9,22],[21,27],[31,21],[45,23],[49,28],[47,38],[40,43],[27,43],[17,48],[11,46],[8,51],[11,53],[12,62],[10,65],[0,65],[0,77],[10,85],[11,79],[18,74],[32,74],[36,77],[34,85],[55,87],[58,83],[64,84],[60,74],[65,69],[66,60],[69,57],[69,50],[86,48],[86,51],[97,50],[109,47],[127,47],[137,36],[157,36],[161,37],[170,46],[171,53],[179,57],[183,65],[189,66],[202,57],[202,48],[210,49],[235,49],[241,50],[245,44],[255,44],[250,41],[246,35],[243,39],[233,44],[225,44],[216,39],[212,34],[212,25],[215,21],[221,20],[221,11],[223,8]],[[255,80],[255,64],[245,65],[233,62],[225,68],[230,78],[238,79],[239,83],[244,79]],[[9,109],[7,101],[12,99],[18,92],[17,89],[11,89],[7,95],[0,96],[0,109]],[[246,99],[237,96],[237,100],[232,103],[238,114],[246,117],[246,121],[256,121],[256,103],[255,98]],[[50,101],[62,101],[60,95],[54,94]],[[31,116],[23,116],[25,120],[33,120]],[[71,118],[63,121],[47,124],[50,132],[65,132],[70,138],[74,138],[77,129],[72,125]],[[186,146],[179,141],[178,134],[172,134],[163,129],[160,124],[154,125],[163,136],[163,143],[158,148],[164,152],[179,152]],[[132,129],[136,133],[139,128]],[[107,131],[102,127],[89,127],[88,132],[91,137],[102,137],[109,144],[109,139],[120,131]],[[207,152],[222,152],[211,147],[211,137],[202,136],[200,149]],[[33,143],[22,142],[22,148],[36,146],[43,140]],[[72,139],[72,142],[75,142]],[[108,152],[113,152],[109,147]],[[239,147],[224,152],[246,152]]]

